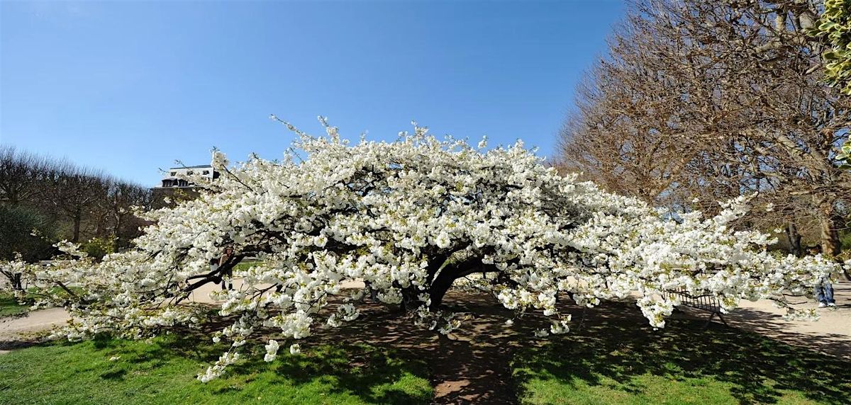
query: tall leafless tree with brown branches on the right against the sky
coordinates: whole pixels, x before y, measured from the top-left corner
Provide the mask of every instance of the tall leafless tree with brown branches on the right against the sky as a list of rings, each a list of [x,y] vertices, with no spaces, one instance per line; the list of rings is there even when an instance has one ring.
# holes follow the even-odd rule
[[[841,169],[851,97],[825,81],[823,4],[806,0],[634,3],[580,85],[561,164],[644,200],[711,210],[760,192],[751,225],[817,228],[840,253],[851,203]],[[701,205],[699,201],[706,201]],[[800,248],[798,248],[800,250]]]

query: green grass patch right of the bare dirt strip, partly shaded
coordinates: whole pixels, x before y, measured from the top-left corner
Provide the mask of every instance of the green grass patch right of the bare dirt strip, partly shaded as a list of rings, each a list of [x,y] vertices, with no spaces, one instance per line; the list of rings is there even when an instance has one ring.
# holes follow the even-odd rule
[[[527,404],[851,403],[851,362],[687,320],[591,326],[524,349],[512,373]]]

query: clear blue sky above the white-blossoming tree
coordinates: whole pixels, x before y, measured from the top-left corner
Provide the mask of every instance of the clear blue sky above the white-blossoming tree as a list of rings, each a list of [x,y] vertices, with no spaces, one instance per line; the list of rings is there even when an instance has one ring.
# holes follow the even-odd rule
[[[0,2],[0,142],[147,185],[321,134],[431,133],[551,155],[620,1]]]

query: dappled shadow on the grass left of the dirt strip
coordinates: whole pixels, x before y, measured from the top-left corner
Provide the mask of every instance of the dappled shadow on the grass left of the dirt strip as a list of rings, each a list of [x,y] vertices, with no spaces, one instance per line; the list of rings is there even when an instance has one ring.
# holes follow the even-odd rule
[[[139,370],[163,368],[174,359],[189,359],[199,366],[203,364],[197,370],[200,373],[227,348],[210,342],[209,335],[198,330],[184,330],[179,336],[158,337],[147,344],[113,340],[108,336],[98,336],[92,344],[108,353],[105,353],[107,357],[113,353],[121,357],[114,367],[99,374],[104,380],[133,379]],[[427,403],[431,399],[431,390],[418,389],[415,384],[405,385],[404,382],[409,377],[427,380],[426,362],[393,349],[365,344],[319,344],[294,356],[285,354],[286,350],[282,348],[277,360],[271,363],[262,360],[262,346],[247,345],[243,349],[243,360],[229,367],[223,380],[207,385],[211,393],[238,396],[238,391],[256,380],[262,380],[262,386],[290,385],[298,390],[312,385],[308,391],[322,391],[322,395],[351,395],[368,403]],[[130,365],[126,367],[125,364]],[[317,385],[322,387],[317,388]],[[315,399],[319,401],[319,398]]]

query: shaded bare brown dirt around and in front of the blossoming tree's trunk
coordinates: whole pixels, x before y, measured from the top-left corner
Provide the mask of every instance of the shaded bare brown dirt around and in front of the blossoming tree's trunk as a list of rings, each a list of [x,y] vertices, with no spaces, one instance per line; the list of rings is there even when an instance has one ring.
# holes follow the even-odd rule
[[[514,317],[514,313],[491,295],[449,291],[444,302],[449,311],[463,319],[461,328],[449,336],[417,326],[413,318],[379,304],[366,302],[359,305],[362,318],[338,329],[317,330],[302,346],[365,344],[392,349],[406,359],[424,360],[435,389],[433,404],[517,403],[511,358],[519,348],[534,340],[534,329],[549,327],[549,320],[528,315],[507,328],[505,321]]]

